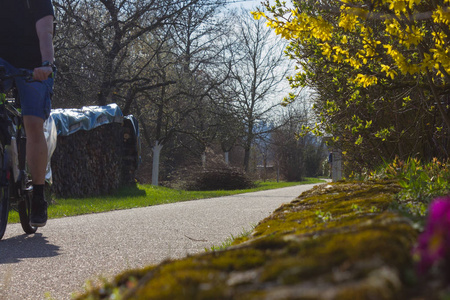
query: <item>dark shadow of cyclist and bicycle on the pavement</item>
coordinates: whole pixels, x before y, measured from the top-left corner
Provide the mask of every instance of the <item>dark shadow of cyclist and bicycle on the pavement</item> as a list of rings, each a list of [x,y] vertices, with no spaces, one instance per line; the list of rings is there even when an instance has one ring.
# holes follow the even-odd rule
[[[24,258],[59,255],[59,246],[49,244],[41,233],[19,235],[0,241],[0,264],[18,263]]]

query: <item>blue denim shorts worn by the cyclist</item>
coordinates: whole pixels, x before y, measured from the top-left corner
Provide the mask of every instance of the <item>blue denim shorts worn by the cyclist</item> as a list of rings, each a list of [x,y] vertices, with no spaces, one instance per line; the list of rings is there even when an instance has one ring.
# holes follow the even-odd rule
[[[17,74],[19,69],[0,58],[7,74]],[[19,91],[22,115],[36,116],[44,120],[48,118],[51,110],[51,97],[53,95],[53,78],[44,81],[27,82],[23,77],[14,79]],[[5,82],[7,89],[12,87],[12,80]]]

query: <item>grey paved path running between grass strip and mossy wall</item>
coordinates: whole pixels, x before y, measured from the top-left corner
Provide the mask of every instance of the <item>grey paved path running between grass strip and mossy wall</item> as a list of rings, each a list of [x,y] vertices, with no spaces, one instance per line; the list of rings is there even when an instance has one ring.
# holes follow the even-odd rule
[[[8,225],[0,241],[0,299],[70,299],[87,280],[202,252],[312,186],[49,220],[33,235]]]

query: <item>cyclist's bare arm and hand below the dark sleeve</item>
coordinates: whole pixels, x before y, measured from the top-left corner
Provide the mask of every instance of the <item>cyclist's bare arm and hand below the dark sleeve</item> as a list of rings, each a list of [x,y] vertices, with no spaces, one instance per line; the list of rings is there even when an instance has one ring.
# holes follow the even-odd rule
[[[36,22],[36,32],[39,38],[42,61],[53,63],[55,60],[53,49],[53,16],[45,16]],[[50,66],[38,67],[33,71],[36,80],[46,80],[53,72]]]

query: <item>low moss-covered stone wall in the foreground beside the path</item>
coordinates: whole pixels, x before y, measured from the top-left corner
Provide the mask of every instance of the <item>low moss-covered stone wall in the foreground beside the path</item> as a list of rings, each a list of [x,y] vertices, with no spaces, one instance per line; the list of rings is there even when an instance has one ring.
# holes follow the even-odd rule
[[[123,273],[78,299],[410,299],[417,232],[392,182],[320,185],[224,251]]]

